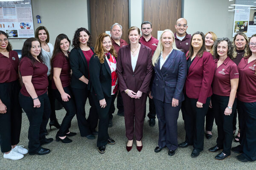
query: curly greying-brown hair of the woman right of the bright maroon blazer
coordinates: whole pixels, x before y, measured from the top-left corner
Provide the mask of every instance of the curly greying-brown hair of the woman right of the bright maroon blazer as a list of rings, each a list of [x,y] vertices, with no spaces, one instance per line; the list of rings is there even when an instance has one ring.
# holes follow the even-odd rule
[[[222,41],[226,41],[227,42],[227,56],[230,57],[230,59],[233,59],[233,56],[236,54],[236,51],[234,51],[234,46],[233,46],[233,42],[230,41],[229,38],[227,37],[223,37],[223,38],[218,38],[214,44],[213,44],[213,55],[216,58],[219,58],[220,56],[217,53],[217,47],[219,45],[219,43],[221,43]]]

